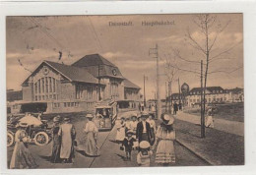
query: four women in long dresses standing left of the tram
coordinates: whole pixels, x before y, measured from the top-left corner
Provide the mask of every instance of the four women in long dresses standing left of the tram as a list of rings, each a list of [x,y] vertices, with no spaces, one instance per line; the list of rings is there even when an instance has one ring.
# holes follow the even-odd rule
[[[92,114],[86,115],[87,122],[84,127],[84,135],[80,142],[79,149],[84,150],[88,156],[98,156],[99,148],[96,144],[97,128],[92,121],[94,116]],[[63,122],[62,122],[63,121]],[[32,140],[26,132],[27,126],[18,123],[17,132],[15,134],[15,147],[13,150],[10,168],[11,169],[25,169],[36,168],[38,163],[33,158],[29,149],[29,143]],[[75,157],[76,130],[71,123],[70,117],[65,117],[63,120],[58,115],[53,118],[53,125],[51,128],[52,145],[49,160],[52,163],[73,163]]]

